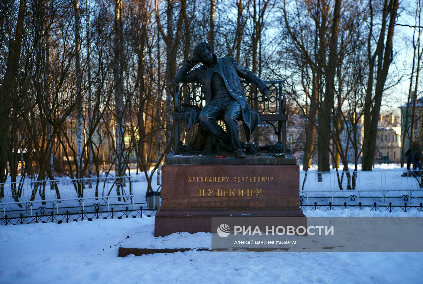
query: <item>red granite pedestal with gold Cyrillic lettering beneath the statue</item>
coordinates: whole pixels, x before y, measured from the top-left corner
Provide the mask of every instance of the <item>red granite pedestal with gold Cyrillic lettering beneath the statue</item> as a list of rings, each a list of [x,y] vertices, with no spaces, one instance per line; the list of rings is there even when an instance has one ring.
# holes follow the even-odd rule
[[[291,163],[291,162],[290,162]],[[305,217],[298,165],[162,166],[162,205],[154,235],[212,232],[211,218]]]

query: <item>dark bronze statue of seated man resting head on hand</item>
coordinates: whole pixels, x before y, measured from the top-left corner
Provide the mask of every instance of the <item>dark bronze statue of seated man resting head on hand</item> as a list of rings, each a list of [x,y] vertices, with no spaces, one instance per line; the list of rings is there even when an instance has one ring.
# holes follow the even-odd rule
[[[192,69],[200,62],[203,63],[201,66]],[[244,158],[236,121],[242,119],[245,136],[249,141],[260,118],[250,110],[239,77],[257,85],[266,99],[269,98],[269,87],[257,75],[241,67],[234,58],[217,58],[211,53],[210,44],[202,42],[195,47],[191,59],[184,61],[176,73],[175,82],[200,82],[206,100],[200,113],[200,125],[222,142],[231,145],[238,158]],[[223,117],[228,132],[217,124],[218,117]]]

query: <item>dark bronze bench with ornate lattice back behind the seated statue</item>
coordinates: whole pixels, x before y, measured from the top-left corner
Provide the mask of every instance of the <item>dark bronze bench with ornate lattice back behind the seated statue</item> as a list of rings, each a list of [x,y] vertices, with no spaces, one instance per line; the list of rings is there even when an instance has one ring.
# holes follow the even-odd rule
[[[248,105],[260,116],[261,121],[270,124],[277,135],[277,142],[282,143],[283,153],[286,154],[286,97],[282,93],[282,84],[284,81],[264,81],[270,89],[270,99],[264,101],[263,96],[257,86],[247,81],[241,81]],[[176,150],[181,134],[182,121],[185,120],[182,104],[203,106],[206,104],[204,100],[201,85],[198,82],[178,83],[175,93],[175,112],[173,113],[173,121],[175,124],[175,145]],[[240,119],[239,119],[240,120]],[[273,122],[276,122],[276,125]],[[255,130],[257,131],[257,130]]]

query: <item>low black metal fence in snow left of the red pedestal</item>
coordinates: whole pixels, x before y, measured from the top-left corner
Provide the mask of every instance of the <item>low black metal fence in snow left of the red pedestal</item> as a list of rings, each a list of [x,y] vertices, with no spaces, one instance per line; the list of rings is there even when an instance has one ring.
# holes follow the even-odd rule
[[[55,214],[53,211],[50,214],[38,214],[35,213],[34,216],[24,216],[20,214],[18,217],[8,218],[5,215],[5,218],[0,218],[0,225],[18,225],[18,224],[30,224],[30,223],[69,223],[77,221],[93,221],[94,219],[123,219],[123,218],[142,218],[143,215],[146,217],[155,216],[157,212],[157,206],[155,209],[143,209],[141,206],[140,209],[129,209],[126,207],[125,210],[114,210],[113,208],[110,211],[100,211],[99,208],[96,208],[95,212],[85,212],[81,210],[79,213],[71,213],[69,210],[66,210],[66,213]]]

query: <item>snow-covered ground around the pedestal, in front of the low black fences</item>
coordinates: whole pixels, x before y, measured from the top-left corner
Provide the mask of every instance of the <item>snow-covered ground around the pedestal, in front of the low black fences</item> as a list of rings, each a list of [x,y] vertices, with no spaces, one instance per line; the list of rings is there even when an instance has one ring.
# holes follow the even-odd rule
[[[369,210],[305,214],[423,217]],[[117,257],[126,236],[143,236],[140,242],[148,245],[153,229],[154,218],[0,226],[0,283],[422,283],[421,253],[186,251]],[[198,234],[207,241],[205,233]]]

